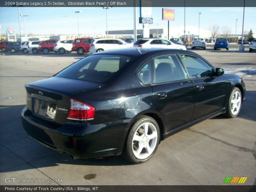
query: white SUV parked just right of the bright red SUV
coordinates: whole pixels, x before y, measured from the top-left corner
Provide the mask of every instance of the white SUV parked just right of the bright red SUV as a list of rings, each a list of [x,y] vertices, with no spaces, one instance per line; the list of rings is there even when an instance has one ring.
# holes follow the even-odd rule
[[[95,53],[110,49],[123,49],[128,47],[132,47],[132,44],[127,44],[118,38],[99,38],[92,40],[89,52]]]

